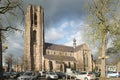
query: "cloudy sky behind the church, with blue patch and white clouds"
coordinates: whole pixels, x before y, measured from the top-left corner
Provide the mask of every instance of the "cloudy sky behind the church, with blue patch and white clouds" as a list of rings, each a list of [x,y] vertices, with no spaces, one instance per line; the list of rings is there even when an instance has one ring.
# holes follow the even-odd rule
[[[67,46],[73,45],[76,38],[77,45],[84,43],[82,31],[86,26],[86,0],[24,0],[24,8],[28,4],[41,5],[44,8],[45,41]],[[24,30],[22,24],[18,26]],[[10,34],[7,38],[6,54],[21,56],[24,53],[24,34]]]

